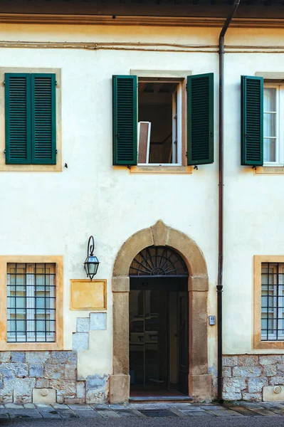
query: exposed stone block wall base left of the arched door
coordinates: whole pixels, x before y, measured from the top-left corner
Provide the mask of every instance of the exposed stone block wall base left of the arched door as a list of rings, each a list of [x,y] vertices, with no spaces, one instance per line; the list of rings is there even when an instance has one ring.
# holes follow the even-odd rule
[[[77,352],[0,352],[0,404],[32,402],[33,389],[55,389],[58,404],[106,401],[108,376],[77,377]]]

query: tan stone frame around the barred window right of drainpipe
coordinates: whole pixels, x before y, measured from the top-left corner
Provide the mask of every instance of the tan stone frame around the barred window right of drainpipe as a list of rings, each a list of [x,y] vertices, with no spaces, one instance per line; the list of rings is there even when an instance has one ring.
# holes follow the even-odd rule
[[[253,257],[253,348],[284,349],[284,341],[261,340],[261,265],[284,263],[284,255],[254,255]]]

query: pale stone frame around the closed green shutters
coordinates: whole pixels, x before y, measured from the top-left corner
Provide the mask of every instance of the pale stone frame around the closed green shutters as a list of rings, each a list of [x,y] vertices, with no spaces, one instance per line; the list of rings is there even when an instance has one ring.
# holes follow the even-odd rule
[[[61,137],[61,69],[59,68],[10,68],[0,67],[0,81],[4,82],[5,73],[55,74],[56,75],[56,164],[6,164],[5,134],[5,85],[0,85],[0,172],[62,172]]]

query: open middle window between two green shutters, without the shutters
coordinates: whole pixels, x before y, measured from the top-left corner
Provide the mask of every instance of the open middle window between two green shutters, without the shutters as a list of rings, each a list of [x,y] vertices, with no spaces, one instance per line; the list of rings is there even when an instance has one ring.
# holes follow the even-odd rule
[[[182,164],[182,83],[138,80],[138,164]]]

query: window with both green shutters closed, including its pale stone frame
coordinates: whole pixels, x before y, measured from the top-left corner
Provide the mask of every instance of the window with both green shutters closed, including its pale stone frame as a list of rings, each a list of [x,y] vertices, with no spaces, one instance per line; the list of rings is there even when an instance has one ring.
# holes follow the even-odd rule
[[[62,170],[61,70],[0,68],[0,170]]]

